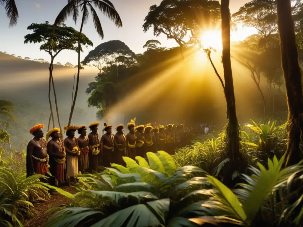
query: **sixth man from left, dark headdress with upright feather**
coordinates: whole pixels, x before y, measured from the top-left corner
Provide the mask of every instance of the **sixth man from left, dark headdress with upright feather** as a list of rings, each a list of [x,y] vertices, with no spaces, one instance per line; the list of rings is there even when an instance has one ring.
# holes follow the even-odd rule
[[[113,158],[115,137],[112,134],[112,126],[104,123],[103,131],[106,133],[100,139],[100,146],[103,155],[103,166],[111,167],[111,159]]]

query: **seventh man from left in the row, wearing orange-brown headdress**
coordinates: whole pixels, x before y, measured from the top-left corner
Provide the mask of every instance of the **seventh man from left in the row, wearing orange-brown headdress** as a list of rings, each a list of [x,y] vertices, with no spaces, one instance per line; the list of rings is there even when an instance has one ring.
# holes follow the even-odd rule
[[[124,134],[124,125],[119,124],[116,126],[117,133],[115,134],[115,149],[114,160],[112,162],[125,166],[123,156],[126,156],[126,137]]]

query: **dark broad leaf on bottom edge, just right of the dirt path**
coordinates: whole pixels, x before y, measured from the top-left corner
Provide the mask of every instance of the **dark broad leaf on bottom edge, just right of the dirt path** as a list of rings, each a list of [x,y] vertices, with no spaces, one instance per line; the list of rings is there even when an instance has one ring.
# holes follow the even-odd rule
[[[45,227],[75,227],[85,225],[85,222],[88,226],[90,220],[100,220],[102,217],[102,212],[92,208],[70,207],[56,212],[47,220]]]

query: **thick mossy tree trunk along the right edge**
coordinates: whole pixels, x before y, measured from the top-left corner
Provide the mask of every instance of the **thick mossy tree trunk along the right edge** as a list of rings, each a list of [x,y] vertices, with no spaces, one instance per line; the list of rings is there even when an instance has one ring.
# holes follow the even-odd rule
[[[300,143],[303,129],[303,95],[301,69],[291,16],[291,0],[277,0],[278,31],[281,62],[288,104],[288,141],[286,166],[298,163],[303,157]]]

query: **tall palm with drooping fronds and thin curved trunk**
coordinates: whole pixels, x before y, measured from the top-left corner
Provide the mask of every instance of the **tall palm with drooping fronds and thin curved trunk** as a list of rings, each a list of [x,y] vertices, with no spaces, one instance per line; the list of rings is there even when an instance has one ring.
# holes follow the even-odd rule
[[[80,27],[80,33],[79,33],[79,39],[78,39],[78,73],[77,73],[77,83],[76,83],[76,89],[75,89],[75,96],[72,104],[72,109],[71,113],[69,115],[69,120],[68,120],[68,126],[70,125],[72,121],[72,114],[75,108],[75,103],[76,103],[76,97],[78,93],[78,86],[79,86],[79,76],[80,76],[80,49],[81,49],[81,44],[80,44],[80,39],[81,39],[81,34],[82,34],[82,28],[83,25],[87,22],[88,19],[88,10],[90,10],[92,14],[92,18],[94,21],[95,29],[100,36],[101,39],[104,38],[104,33],[102,29],[102,25],[100,22],[100,19],[97,15],[97,12],[94,8],[98,8],[101,12],[103,12],[110,20],[114,21],[115,26],[120,28],[122,27],[122,21],[121,18],[116,11],[114,5],[109,1],[109,0],[68,0],[67,5],[63,7],[61,12],[58,14],[57,18],[55,19],[54,26],[57,25],[62,25],[65,20],[67,19],[68,16],[72,16],[73,20],[75,23],[77,22],[77,18],[79,15],[79,10],[82,12],[82,20],[81,20],[81,27]]]

